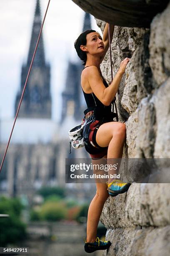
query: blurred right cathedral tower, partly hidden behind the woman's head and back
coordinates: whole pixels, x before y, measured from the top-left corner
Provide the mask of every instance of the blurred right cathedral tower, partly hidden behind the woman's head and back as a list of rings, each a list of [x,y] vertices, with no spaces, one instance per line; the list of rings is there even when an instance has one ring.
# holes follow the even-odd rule
[[[82,32],[88,29],[92,29],[91,18],[89,13],[85,13]],[[80,59],[77,63],[72,63],[71,61],[69,61],[67,67],[65,90],[62,92],[61,123],[65,120],[67,115],[70,114],[70,111],[72,112],[74,119],[77,121],[81,121],[81,119],[84,117],[83,111],[86,108],[86,104],[80,84],[82,69],[83,66]]]

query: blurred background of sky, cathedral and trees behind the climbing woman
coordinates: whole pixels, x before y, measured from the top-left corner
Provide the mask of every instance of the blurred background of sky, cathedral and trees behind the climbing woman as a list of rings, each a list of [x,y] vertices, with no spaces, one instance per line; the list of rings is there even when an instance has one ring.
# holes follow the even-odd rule
[[[0,161],[13,126],[48,0],[0,1]],[[51,0],[32,71],[0,173],[0,246],[30,255],[84,252],[95,184],[65,184],[65,158],[89,158],[70,145],[85,100],[74,42],[95,19],[71,0]],[[7,216],[4,216],[7,215]],[[105,235],[99,224],[98,236]],[[93,254],[99,255],[99,254]]]

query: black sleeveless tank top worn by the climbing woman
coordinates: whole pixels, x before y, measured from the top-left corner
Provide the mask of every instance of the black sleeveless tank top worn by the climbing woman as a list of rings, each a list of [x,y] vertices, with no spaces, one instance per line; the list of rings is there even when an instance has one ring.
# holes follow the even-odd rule
[[[87,66],[87,67],[90,67],[90,66]],[[86,67],[84,67],[85,69]],[[84,70],[82,69],[82,70]],[[105,85],[105,87],[108,87],[108,84],[106,82],[106,80],[104,79],[104,77],[102,76],[102,74],[100,73],[100,76],[102,77],[102,80],[103,80],[103,84]],[[102,104],[102,102],[95,96],[95,94],[92,92],[92,93],[85,93],[82,89],[82,92],[84,94],[84,97],[85,97],[85,102],[87,104],[87,108],[90,108],[90,107],[102,107],[102,108],[105,108],[105,105]]]

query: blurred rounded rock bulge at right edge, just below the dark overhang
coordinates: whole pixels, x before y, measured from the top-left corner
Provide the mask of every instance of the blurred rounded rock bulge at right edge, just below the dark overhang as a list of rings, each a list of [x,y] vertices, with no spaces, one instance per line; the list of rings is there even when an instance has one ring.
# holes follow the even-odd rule
[[[151,23],[150,67],[159,87],[170,76],[170,3]]]

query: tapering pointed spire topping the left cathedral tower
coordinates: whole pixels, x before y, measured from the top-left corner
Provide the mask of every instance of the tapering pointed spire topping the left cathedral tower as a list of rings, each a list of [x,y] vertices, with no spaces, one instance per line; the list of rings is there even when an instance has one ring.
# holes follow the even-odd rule
[[[31,40],[30,40],[30,47],[28,53],[28,61],[27,64],[29,65],[35,50],[36,42],[40,33],[41,28],[41,12],[40,12],[40,0],[36,1],[35,7],[35,15],[33,20],[32,26],[32,33],[31,33]],[[41,61],[40,61],[41,60]],[[34,64],[35,66],[41,66],[45,64],[45,54],[44,54],[44,44],[43,44],[43,36],[41,34],[39,45],[37,48],[37,52],[35,54]]]

